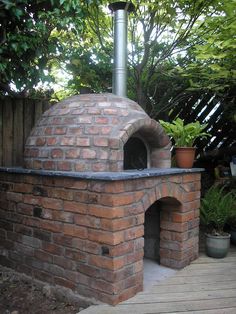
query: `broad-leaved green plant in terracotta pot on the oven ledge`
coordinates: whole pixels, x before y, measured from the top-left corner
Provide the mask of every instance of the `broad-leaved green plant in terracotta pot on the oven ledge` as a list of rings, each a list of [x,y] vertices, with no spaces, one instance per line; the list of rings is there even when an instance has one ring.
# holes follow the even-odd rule
[[[193,166],[196,148],[193,146],[197,138],[209,136],[204,130],[207,124],[200,124],[199,121],[184,125],[184,120],[177,118],[172,123],[163,120],[159,121],[166,133],[175,142],[176,164],[180,168],[191,168]]]

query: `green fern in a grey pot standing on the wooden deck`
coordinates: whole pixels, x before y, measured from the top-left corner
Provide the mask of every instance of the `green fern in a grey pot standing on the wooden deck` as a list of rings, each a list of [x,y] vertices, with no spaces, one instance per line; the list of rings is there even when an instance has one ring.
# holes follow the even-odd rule
[[[223,258],[230,246],[230,234],[225,225],[235,210],[235,196],[226,193],[224,187],[213,185],[201,199],[201,222],[206,226],[206,253],[208,256]]]

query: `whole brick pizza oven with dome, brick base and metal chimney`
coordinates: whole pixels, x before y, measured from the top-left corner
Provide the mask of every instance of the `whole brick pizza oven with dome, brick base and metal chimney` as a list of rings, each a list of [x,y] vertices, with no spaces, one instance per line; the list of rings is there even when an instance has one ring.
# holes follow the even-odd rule
[[[124,39],[134,7],[110,8]],[[197,258],[202,171],[170,168],[168,136],[123,97],[124,45],[114,94],[52,106],[25,167],[0,168],[0,263],[113,305],[142,291],[144,255],[178,269]]]

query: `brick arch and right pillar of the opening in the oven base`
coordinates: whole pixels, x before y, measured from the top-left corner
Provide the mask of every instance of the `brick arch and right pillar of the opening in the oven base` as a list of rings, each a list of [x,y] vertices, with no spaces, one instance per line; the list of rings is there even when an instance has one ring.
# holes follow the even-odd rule
[[[176,181],[159,180],[145,190],[141,203],[145,219],[145,212],[158,202],[161,211],[160,264],[180,269],[197,257],[198,227],[195,224],[198,213],[190,208],[194,208],[195,203],[188,202],[188,195],[194,192],[186,191],[186,185]]]

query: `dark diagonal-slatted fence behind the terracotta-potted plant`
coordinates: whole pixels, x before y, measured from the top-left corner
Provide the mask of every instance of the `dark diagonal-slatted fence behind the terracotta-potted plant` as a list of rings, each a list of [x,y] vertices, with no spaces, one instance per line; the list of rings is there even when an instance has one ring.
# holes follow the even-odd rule
[[[236,148],[236,122],[233,118],[235,106],[235,94],[219,97],[214,94],[193,93],[176,104],[169,119],[172,121],[180,117],[186,123],[195,120],[207,123],[206,131],[211,136],[196,141],[198,152],[222,150],[233,153]]]

